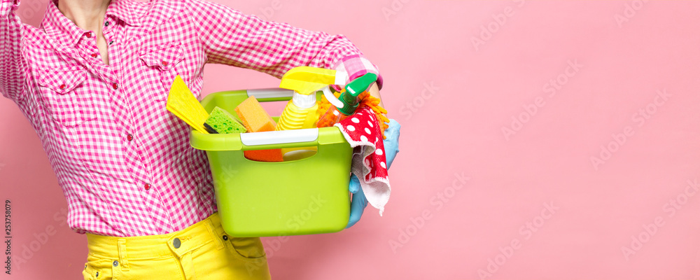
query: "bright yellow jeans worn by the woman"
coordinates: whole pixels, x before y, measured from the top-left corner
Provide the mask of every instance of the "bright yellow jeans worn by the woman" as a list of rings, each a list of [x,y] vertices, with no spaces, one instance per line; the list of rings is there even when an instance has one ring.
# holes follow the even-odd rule
[[[87,234],[85,280],[270,279],[258,237],[231,237],[218,213],[167,235],[106,237]]]

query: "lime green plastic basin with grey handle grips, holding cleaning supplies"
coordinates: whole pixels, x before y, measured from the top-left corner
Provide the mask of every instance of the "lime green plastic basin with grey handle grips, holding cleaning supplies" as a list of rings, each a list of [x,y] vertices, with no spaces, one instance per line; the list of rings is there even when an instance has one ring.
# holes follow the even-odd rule
[[[201,103],[207,112],[218,106],[235,113],[236,106],[249,94],[255,95],[259,102],[291,99],[288,90],[237,90],[209,94]],[[311,235],[343,230],[350,215],[348,182],[352,148],[340,130],[323,127],[275,132],[272,143],[265,140],[265,133],[269,134],[202,134],[196,130],[190,134],[190,144],[207,151],[224,230],[234,237]],[[303,137],[291,137],[297,134]],[[309,146],[318,148],[316,155],[288,162],[256,162],[243,154],[251,150]]]

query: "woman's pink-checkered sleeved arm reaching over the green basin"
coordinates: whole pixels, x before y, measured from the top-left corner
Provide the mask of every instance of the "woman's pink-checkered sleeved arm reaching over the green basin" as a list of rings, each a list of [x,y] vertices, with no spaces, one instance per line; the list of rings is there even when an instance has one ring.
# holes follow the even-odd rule
[[[189,0],[208,62],[239,66],[277,78],[296,66],[343,69],[350,78],[377,73],[345,36],[266,22],[203,0]],[[381,76],[377,81],[381,88]],[[378,92],[378,90],[377,90]]]

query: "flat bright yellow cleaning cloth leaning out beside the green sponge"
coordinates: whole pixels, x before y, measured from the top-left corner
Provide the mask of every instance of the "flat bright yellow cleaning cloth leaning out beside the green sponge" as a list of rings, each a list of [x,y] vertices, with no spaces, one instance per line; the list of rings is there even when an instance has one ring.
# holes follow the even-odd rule
[[[195,98],[195,94],[190,91],[180,76],[175,78],[172,87],[170,87],[165,108],[198,132],[209,134],[204,128],[204,122],[209,118],[209,114],[204,111],[200,101]]]

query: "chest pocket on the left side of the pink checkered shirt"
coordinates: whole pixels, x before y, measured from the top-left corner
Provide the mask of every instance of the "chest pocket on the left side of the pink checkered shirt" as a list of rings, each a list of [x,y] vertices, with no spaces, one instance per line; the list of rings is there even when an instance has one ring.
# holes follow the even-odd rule
[[[97,118],[86,80],[87,69],[80,66],[38,70],[41,99],[52,120],[66,127],[76,127]]]

